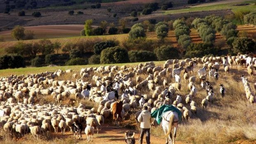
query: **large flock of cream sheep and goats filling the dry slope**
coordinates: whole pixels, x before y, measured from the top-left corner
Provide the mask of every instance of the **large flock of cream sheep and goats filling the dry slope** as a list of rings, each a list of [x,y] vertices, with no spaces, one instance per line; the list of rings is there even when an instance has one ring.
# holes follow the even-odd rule
[[[87,140],[92,141],[94,130],[98,133],[104,121],[111,118],[112,106],[117,101],[123,102],[121,118],[131,112],[135,113],[137,118],[143,106],[148,106],[149,111],[153,112],[164,104],[173,104],[183,113],[183,119],[190,120],[192,115],[196,115],[199,107],[207,108],[213,101],[213,86],[206,80],[207,75],[209,80],[218,80],[220,67],[224,66],[223,69],[228,74],[230,66],[240,67],[244,64],[248,66],[249,76],[253,76],[256,58],[240,55],[180,61],[170,59],[163,66],[155,66],[151,61],[135,67],[90,67],[82,68],[79,74],[69,69],[1,77],[0,129],[12,137],[23,137],[31,133],[37,138],[53,129],[55,133],[58,133],[59,129],[62,135],[65,135],[66,130],[70,130],[75,138],[77,134],[82,139],[81,128],[78,126],[82,125],[85,127]],[[194,73],[196,68],[199,68],[197,74]],[[56,80],[67,73],[73,73],[72,77],[76,80]],[[186,89],[181,85],[181,73],[184,73],[183,79],[190,91],[185,97],[180,94],[181,90]],[[196,85],[197,79],[201,82],[200,86]],[[242,81],[247,99],[250,103],[255,103],[256,98],[244,76]],[[222,89],[224,87],[220,89],[220,93]],[[197,97],[198,90],[206,91],[206,98],[202,99],[201,106],[193,100]],[[36,104],[37,100],[46,95],[51,95],[56,102]],[[72,97],[78,103],[77,107],[63,105],[65,99],[71,100]],[[84,104],[79,103],[81,99],[95,102],[97,108],[86,109]],[[190,108],[185,107],[186,104],[182,102]],[[157,125],[155,120],[152,125]]]

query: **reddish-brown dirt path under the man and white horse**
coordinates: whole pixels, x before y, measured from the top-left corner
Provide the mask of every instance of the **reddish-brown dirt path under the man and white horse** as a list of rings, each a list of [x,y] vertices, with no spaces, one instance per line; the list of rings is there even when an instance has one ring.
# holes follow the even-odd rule
[[[93,135],[93,141],[90,142],[90,144],[125,144],[125,136],[124,132],[129,129],[118,127],[118,126],[109,126],[105,125],[102,127],[102,130],[99,131],[99,134],[97,134],[97,131],[95,130],[95,134]],[[139,132],[129,130],[130,132],[135,132],[135,141],[136,144],[138,143],[138,137]],[[73,134],[70,132],[66,132],[65,135],[68,135],[68,137],[73,138]],[[83,131],[82,133],[83,141],[86,142],[87,137]],[[161,137],[156,137],[154,135],[150,135],[150,142],[151,144],[165,144],[165,139]],[[82,142],[83,143],[83,142]],[[145,136],[143,139],[143,144],[146,144]],[[176,141],[175,144],[183,144],[183,142]]]

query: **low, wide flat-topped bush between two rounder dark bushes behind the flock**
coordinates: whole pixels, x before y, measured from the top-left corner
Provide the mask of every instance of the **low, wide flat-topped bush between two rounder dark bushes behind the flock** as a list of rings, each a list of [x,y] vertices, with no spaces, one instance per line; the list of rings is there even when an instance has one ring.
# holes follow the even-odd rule
[[[155,61],[156,54],[146,50],[131,50],[128,52],[130,62]]]

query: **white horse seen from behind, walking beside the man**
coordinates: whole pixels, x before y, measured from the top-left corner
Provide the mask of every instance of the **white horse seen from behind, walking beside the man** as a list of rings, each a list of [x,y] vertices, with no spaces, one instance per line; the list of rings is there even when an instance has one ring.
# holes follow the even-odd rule
[[[179,122],[179,117],[178,113],[173,112],[173,111],[166,111],[163,114],[163,119],[161,121],[161,125],[163,127],[165,137],[166,137],[166,144],[175,144],[175,137],[176,137],[176,131],[178,129],[178,122]],[[174,127],[174,138],[173,138],[173,143],[172,143],[172,134],[171,130]],[[168,142],[168,137],[169,137],[169,142]]]

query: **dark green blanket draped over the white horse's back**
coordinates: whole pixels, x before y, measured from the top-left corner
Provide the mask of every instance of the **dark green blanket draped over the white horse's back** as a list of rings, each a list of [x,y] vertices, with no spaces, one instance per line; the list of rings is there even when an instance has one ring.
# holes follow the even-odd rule
[[[160,124],[161,121],[162,121],[162,115],[166,111],[176,112],[178,114],[178,116],[179,116],[179,121],[181,121],[181,118],[182,118],[181,111],[179,109],[175,108],[173,105],[167,105],[167,104],[161,106],[158,110],[156,110],[153,113],[151,113],[151,117],[155,118],[157,123]]]

